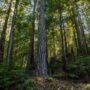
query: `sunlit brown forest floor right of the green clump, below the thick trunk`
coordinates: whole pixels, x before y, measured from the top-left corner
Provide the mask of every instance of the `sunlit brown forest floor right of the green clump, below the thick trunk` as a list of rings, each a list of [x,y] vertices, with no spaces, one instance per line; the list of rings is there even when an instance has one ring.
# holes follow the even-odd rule
[[[38,90],[90,90],[90,83],[53,78],[36,78],[35,81]]]

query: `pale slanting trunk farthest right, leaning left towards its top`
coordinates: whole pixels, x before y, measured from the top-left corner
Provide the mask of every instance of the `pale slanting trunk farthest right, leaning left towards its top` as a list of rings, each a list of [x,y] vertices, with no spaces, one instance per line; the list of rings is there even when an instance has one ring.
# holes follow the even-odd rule
[[[88,55],[88,45],[87,45],[87,41],[86,41],[86,36],[85,36],[85,16],[83,14],[83,7],[82,5],[77,5],[77,9],[78,9],[78,18],[80,20],[80,29],[81,29],[81,35],[82,35],[82,45],[83,45],[83,50],[84,53],[83,55]]]

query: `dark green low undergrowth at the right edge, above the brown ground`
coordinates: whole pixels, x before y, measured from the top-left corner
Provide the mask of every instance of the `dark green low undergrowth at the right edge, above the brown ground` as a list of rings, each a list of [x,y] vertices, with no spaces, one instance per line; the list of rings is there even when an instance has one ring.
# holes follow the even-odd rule
[[[90,76],[90,57],[79,57],[75,62],[68,65],[69,76],[83,78]]]

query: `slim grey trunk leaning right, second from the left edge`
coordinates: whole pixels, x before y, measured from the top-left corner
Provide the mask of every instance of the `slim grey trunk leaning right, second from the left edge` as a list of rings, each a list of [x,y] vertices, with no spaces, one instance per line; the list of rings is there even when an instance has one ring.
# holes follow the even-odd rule
[[[8,42],[8,48],[7,48],[7,57],[6,57],[6,65],[10,66],[10,60],[12,59],[12,49],[13,49],[13,41],[14,41],[14,26],[15,26],[15,20],[17,15],[17,8],[18,8],[19,0],[16,0],[14,13],[13,13],[13,19],[12,19],[12,25],[10,30],[10,36],[9,36],[9,42]]]

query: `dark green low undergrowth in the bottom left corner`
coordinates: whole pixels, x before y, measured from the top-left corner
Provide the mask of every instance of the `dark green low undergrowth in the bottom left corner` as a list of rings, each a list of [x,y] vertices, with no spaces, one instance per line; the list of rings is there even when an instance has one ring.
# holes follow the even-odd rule
[[[23,70],[0,69],[0,89],[17,86],[28,78]]]

